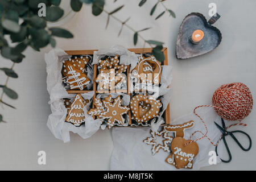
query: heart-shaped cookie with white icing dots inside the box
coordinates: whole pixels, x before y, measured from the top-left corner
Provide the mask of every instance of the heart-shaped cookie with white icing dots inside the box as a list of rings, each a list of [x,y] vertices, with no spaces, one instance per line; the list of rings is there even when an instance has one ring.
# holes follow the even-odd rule
[[[133,119],[138,123],[147,122],[159,114],[162,103],[160,100],[148,99],[148,96],[138,94],[131,98],[130,109]]]

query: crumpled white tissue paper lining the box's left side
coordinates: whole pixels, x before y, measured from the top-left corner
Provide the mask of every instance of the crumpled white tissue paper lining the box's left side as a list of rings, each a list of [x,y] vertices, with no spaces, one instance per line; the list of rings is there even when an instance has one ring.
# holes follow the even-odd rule
[[[50,114],[48,117],[47,126],[57,139],[61,139],[64,142],[70,141],[69,131],[77,133],[85,139],[96,133],[96,131],[100,129],[101,125],[101,121],[99,119],[94,120],[92,117],[88,117],[87,114],[94,95],[93,91],[81,94],[85,100],[90,101],[88,104],[86,104],[86,109],[84,111],[86,117],[85,125],[76,127],[71,123],[65,122],[65,118],[67,117],[67,109],[64,106],[63,98],[73,98],[76,95],[68,94],[62,82],[62,62],[63,60],[69,59],[69,57],[71,56],[67,55],[61,49],[53,49],[45,54],[47,90],[50,96],[49,104],[51,105],[52,111],[52,114]],[[92,73],[90,72],[88,75],[92,75]]]

